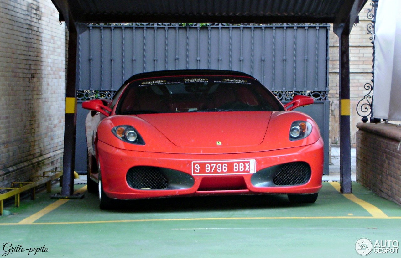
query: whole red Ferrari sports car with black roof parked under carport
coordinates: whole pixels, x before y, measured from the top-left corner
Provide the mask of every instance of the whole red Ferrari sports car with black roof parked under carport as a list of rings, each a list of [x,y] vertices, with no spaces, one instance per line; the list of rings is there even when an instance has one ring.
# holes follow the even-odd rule
[[[288,194],[315,202],[323,140],[295,96],[282,105],[255,78],[221,70],[132,76],[112,101],[85,101],[88,191],[113,199]]]

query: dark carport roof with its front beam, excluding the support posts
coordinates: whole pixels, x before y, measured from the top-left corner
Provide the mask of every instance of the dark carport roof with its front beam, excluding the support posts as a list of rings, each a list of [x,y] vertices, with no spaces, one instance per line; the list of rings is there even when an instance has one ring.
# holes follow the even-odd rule
[[[346,23],[367,0],[52,0],[74,22]],[[355,14],[352,17],[352,14]],[[68,24],[68,23],[67,23]]]

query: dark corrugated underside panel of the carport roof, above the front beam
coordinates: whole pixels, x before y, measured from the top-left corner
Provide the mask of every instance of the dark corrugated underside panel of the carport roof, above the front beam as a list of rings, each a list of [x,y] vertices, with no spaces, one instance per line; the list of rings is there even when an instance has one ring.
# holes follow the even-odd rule
[[[83,14],[332,16],[344,0],[70,0]],[[227,10],[230,10],[227,12]],[[74,11],[74,10],[73,10]]]

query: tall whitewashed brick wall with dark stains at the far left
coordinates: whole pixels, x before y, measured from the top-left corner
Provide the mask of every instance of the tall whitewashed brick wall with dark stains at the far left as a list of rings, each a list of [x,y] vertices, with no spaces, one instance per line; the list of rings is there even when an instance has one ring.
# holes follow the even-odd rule
[[[0,187],[62,165],[65,25],[51,0],[0,0]]]

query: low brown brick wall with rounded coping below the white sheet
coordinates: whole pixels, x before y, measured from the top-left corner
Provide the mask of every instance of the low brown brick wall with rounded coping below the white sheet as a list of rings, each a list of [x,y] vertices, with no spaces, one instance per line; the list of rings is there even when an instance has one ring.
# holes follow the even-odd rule
[[[358,123],[356,181],[401,205],[401,127]]]

